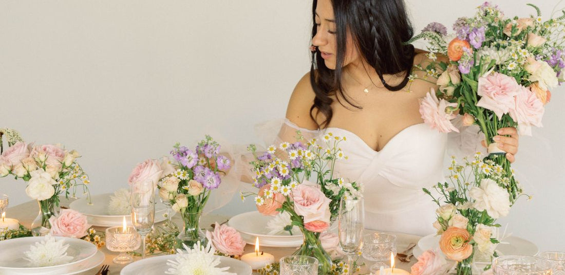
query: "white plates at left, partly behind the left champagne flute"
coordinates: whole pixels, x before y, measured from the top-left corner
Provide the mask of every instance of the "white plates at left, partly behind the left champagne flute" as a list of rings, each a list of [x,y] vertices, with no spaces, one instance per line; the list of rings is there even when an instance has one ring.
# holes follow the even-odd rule
[[[107,193],[101,195],[91,196],[90,200],[92,204],[88,203],[86,197],[81,197],[69,204],[69,208],[77,210],[78,212],[85,214],[88,219],[88,223],[94,226],[120,226],[123,224],[123,219],[128,225],[132,225],[132,220],[130,214],[127,215],[110,215],[108,214],[108,205],[110,204],[110,196],[114,193]],[[161,203],[158,196],[155,197],[155,222],[161,222],[166,220],[163,214],[166,213],[167,207]],[[174,212],[174,211],[171,211]],[[172,213],[175,216],[175,213]]]

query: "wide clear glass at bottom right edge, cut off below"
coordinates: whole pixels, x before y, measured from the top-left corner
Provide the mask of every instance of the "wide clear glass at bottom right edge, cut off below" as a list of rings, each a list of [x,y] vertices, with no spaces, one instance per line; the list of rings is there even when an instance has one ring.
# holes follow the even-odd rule
[[[534,256],[501,256],[493,261],[495,275],[551,275],[549,260]]]

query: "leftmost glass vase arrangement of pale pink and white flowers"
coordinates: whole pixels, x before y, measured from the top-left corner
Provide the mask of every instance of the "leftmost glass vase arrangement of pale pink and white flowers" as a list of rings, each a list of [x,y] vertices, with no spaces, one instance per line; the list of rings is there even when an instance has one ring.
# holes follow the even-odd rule
[[[34,235],[46,234],[51,225],[49,218],[56,214],[59,195],[76,197],[77,188],[90,199],[88,175],[76,162],[80,157],[75,150],[60,145],[33,145],[17,142],[0,155],[0,177],[14,175],[28,183],[25,193],[36,199],[40,214],[32,223]],[[45,230],[47,229],[47,230]]]

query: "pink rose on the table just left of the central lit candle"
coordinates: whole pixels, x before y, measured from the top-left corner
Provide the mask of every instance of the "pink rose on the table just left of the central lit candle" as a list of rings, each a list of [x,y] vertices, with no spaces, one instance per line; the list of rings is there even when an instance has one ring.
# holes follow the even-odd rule
[[[216,222],[214,231],[206,231],[206,238],[212,242],[212,245],[221,253],[230,256],[241,256],[244,253],[245,240],[241,238],[241,234],[227,225],[219,225]]]

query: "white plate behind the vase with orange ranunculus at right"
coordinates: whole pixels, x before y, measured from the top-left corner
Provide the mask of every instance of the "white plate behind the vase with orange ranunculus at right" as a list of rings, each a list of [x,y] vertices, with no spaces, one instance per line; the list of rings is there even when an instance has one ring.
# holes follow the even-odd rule
[[[441,236],[436,236],[435,234],[427,235],[421,238],[418,242],[418,246],[414,248],[414,257],[420,256],[424,251],[439,248],[440,247]],[[418,249],[416,249],[418,248]],[[525,255],[525,256],[535,256],[540,252],[536,244],[530,242],[529,240],[510,236],[501,241],[496,248],[496,252],[499,256],[503,255]],[[441,251],[440,251],[441,253]],[[445,255],[442,256],[445,257]],[[490,262],[477,261],[477,264],[490,264]]]

